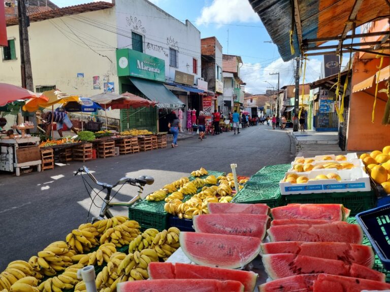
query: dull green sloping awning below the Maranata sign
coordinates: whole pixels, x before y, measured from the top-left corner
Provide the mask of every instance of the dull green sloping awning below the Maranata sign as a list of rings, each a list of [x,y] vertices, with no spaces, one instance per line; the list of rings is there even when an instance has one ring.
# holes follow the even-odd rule
[[[159,108],[179,108],[184,105],[162,83],[133,77],[129,79],[147,98],[155,101]]]

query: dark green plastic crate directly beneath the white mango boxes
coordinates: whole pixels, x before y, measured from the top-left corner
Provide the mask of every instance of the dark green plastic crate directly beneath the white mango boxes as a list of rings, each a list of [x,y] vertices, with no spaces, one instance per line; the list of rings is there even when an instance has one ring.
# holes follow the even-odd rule
[[[282,195],[286,204],[343,204],[351,210],[351,215],[372,209],[375,206],[375,195],[373,191],[368,192],[344,192],[344,193],[313,193]]]

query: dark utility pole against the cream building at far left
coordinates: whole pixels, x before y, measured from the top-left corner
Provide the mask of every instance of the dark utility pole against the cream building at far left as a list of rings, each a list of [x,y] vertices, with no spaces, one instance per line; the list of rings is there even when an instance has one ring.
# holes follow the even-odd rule
[[[25,0],[18,1],[18,19],[19,19],[20,69],[21,69],[22,87],[30,91],[34,91],[34,85],[32,84],[30,46],[28,43],[28,30],[27,30],[27,9],[26,9]]]

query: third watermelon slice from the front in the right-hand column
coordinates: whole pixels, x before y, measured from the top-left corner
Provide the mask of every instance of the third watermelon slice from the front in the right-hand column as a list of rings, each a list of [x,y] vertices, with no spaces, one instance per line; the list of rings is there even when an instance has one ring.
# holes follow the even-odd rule
[[[280,241],[262,243],[262,253],[295,253],[330,260],[340,260],[346,265],[358,264],[371,268],[375,254],[371,246],[345,242]]]

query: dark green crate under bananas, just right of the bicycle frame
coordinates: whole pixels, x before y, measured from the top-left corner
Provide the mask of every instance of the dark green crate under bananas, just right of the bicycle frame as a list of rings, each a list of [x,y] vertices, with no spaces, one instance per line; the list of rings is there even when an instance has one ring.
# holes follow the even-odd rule
[[[158,231],[168,226],[168,213],[164,210],[165,201],[153,202],[143,199],[139,203],[128,208],[130,220],[137,221],[141,230],[155,228]]]

